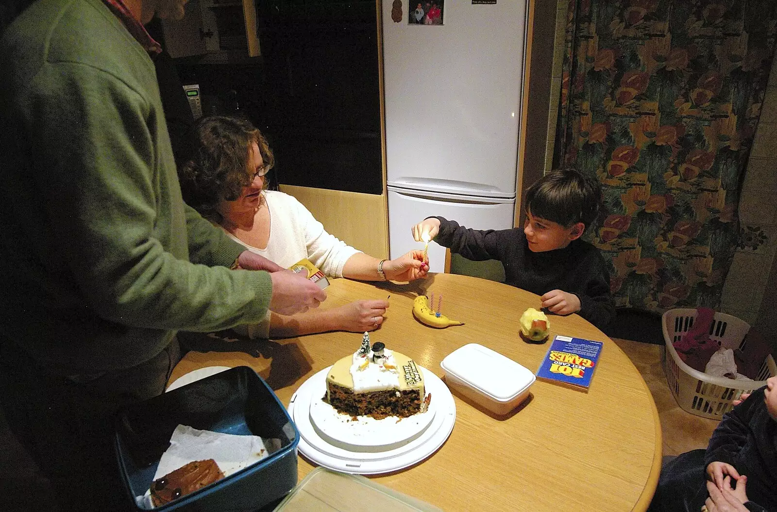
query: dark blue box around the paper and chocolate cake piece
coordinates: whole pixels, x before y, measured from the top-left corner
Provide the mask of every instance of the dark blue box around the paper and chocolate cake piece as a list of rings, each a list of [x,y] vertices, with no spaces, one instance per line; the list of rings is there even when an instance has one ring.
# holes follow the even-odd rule
[[[280,500],[297,484],[299,432],[286,408],[256,371],[239,366],[121,409],[114,448],[127,499],[151,486],[159,459],[179,425],[224,434],[280,439],[267,458],[152,510],[246,512]]]

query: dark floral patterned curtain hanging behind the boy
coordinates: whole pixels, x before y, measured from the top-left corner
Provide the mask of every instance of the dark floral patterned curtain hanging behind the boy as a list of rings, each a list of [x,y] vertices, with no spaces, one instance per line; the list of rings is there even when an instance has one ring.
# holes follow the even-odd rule
[[[597,176],[619,307],[717,308],[775,0],[570,0],[554,167]]]

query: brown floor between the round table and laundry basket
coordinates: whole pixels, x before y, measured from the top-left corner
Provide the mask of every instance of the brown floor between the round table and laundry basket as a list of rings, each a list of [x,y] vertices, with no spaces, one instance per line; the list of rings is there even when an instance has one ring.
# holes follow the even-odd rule
[[[661,421],[664,455],[679,455],[695,448],[707,448],[707,441],[718,421],[695,416],[680,409],[669,390],[664,368],[661,366],[664,347],[618,338],[612,340],[629,356],[653,393]]]

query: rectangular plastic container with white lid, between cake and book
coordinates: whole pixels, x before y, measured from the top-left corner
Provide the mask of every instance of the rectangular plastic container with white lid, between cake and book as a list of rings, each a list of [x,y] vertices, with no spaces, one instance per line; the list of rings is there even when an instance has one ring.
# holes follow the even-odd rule
[[[440,366],[451,391],[500,416],[526,399],[536,379],[527,367],[477,343],[454,350]]]

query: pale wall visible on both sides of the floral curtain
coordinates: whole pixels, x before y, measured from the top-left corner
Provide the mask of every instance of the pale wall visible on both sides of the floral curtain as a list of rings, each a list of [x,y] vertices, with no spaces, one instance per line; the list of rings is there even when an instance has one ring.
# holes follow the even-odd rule
[[[551,169],[556,140],[556,118],[564,54],[566,10],[569,0],[558,0],[556,35],[548,106],[545,172]],[[758,326],[763,333],[777,330],[777,57],[758,121],[744,176],[739,215],[741,236],[726,284],[720,311]],[[775,343],[777,345],[777,343]]]

